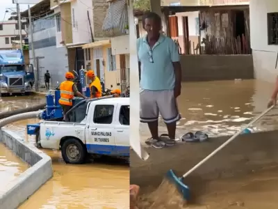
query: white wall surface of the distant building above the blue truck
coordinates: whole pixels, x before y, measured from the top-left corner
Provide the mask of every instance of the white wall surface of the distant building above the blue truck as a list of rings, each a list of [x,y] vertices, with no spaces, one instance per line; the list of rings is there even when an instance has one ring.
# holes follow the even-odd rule
[[[26,22],[26,20],[22,20]],[[11,49],[13,44],[11,38],[19,35],[19,30],[15,28],[17,20],[8,20],[0,22],[3,25],[3,30],[0,30],[0,49]],[[26,36],[26,31],[24,31],[26,26],[22,28],[22,35]],[[6,38],[8,38],[8,43],[6,44]]]

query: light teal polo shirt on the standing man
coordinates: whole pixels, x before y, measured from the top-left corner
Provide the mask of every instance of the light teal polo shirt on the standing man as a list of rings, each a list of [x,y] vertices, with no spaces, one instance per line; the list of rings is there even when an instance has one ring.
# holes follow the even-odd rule
[[[179,62],[179,51],[174,40],[161,34],[151,49],[147,36],[138,38],[137,54],[141,63],[140,88],[152,91],[174,89],[175,75],[172,63]]]

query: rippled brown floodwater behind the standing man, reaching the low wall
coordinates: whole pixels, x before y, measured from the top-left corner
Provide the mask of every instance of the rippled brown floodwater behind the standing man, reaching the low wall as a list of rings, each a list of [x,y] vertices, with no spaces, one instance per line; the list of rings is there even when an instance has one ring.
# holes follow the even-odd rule
[[[183,83],[178,98],[182,118],[177,131],[203,131],[211,137],[234,134],[266,109],[272,88],[273,84],[256,80]],[[270,111],[252,130],[277,129],[277,116],[277,110]],[[162,120],[159,124],[165,130]],[[146,126],[142,127],[145,130]]]

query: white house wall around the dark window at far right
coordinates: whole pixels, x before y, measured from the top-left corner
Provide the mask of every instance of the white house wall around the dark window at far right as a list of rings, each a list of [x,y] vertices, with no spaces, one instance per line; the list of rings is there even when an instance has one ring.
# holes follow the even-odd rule
[[[250,38],[257,79],[275,82],[278,70],[275,69],[278,45],[268,45],[267,13],[278,11],[275,0],[250,1]]]

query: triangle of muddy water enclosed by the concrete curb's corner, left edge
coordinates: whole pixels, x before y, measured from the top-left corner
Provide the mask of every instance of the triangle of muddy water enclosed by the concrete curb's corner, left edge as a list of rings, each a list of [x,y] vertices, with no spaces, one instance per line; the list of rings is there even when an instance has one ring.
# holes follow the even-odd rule
[[[5,187],[11,180],[28,169],[25,164],[11,150],[0,143],[0,185]]]

